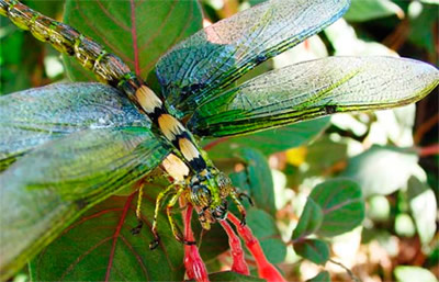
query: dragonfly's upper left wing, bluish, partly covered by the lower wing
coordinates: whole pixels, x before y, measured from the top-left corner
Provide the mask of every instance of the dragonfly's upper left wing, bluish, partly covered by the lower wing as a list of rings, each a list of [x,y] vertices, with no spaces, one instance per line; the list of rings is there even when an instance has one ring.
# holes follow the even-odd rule
[[[0,97],[0,171],[48,140],[86,128],[149,127],[116,89],[101,83],[59,83]]]

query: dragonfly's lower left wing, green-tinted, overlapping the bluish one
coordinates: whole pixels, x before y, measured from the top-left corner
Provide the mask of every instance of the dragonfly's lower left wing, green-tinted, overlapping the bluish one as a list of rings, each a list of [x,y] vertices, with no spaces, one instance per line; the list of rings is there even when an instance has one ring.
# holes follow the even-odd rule
[[[88,207],[145,177],[168,153],[149,129],[124,127],[76,132],[20,158],[0,174],[2,279]]]

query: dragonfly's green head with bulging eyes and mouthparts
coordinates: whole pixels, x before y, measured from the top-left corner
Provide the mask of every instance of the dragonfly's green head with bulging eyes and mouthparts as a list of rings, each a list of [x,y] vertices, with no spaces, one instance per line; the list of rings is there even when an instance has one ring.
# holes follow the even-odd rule
[[[230,179],[216,168],[209,168],[192,177],[190,201],[199,213],[204,229],[227,216],[226,198],[232,192]]]

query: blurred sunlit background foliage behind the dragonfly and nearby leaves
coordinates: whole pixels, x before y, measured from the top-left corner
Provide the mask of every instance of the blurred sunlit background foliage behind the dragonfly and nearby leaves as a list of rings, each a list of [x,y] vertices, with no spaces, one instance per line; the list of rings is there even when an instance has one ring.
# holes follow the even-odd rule
[[[23,2],[63,19],[64,1]],[[261,1],[204,0],[201,4],[205,20],[215,22],[258,2]],[[404,56],[438,66],[438,4],[437,0],[352,0],[344,19],[266,61],[237,83],[269,69],[333,55]],[[19,31],[7,19],[1,18],[0,23],[1,94],[68,80],[56,50]],[[267,255],[288,280],[311,279],[325,269],[333,281],[350,281],[347,268],[364,282],[437,281],[438,123],[436,89],[416,106],[320,119],[302,125],[306,126],[304,134],[294,139],[289,139],[286,128],[222,140],[212,146],[210,155],[225,169],[224,163],[235,158],[237,165],[229,171],[234,182],[248,189],[257,202],[267,187],[274,191],[270,204],[260,204],[263,208],[249,212],[248,222],[259,237],[273,238],[274,241],[266,242],[270,247]],[[300,131],[300,126],[294,131]],[[309,133],[309,128],[315,131]],[[211,146],[212,140],[205,145]],[[243,169],[243,163],[257,166],[251,171],[251,166]],[[340,176],[360,184],[365,219],[360,227],[328,240],[334,263],[322,266],[309,258],[304,260],[293,248],[285,248],[285,242],[290,241],[313,188]],[[259,229],[258,222],[264,223]],[[204,240],[209,241],[209,236]],[[201,249],[211,270],[224,269],[230,262],[229,255],[224,252],[224,238],[216,244],[225,247],[216,248],[216,252],[209,250],[209,245]],[[328,277],[320,272],[318,279],[327,281]],[[26,274],[15,278],[21,279],[25,280]]]

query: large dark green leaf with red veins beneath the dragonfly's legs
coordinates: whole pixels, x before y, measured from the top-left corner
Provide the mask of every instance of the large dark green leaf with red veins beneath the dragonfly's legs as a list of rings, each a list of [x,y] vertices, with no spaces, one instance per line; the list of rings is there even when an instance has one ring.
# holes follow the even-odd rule
[[[93,206],[52,242],[31,266],[35,281],[181,281],[183,246],[172,236],[165,211],[158,216],[160,245],[149,250],[149,230],[159,188],[144,188],[142,205],[146,223],[138,235],[131,229],[137,193],[112,196]],[[181,217],[179,212],[175,213]],[[158,267],[160,266],[160,267]]]

